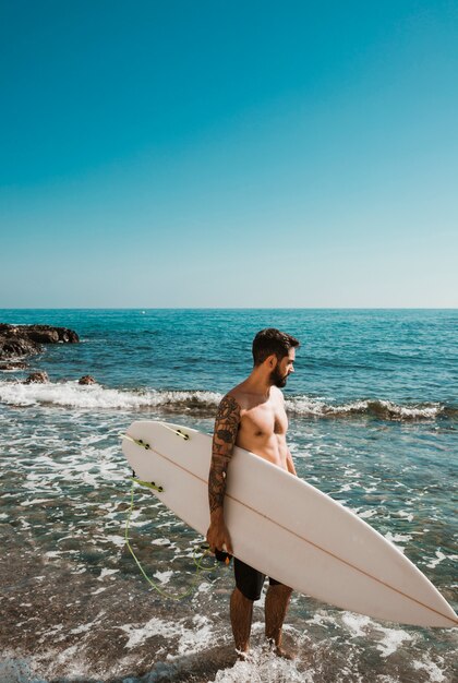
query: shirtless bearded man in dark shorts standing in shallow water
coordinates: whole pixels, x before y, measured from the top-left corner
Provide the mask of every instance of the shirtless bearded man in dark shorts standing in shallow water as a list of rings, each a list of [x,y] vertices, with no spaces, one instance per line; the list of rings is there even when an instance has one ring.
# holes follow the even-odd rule
[[[280,387],[286,385],[288,375],[294,371],[294,349],[298,346],[298,339],[278,329],[258,332],[253,340],[253,371],[219,405],[208,477],[210,526],[207,541],[213,552],[219,550],[232,554],[231,539],[225,524],[224,500],[226,476],[234,445],[296,475],[286,443],[288,419]],[[233,564],[236,588],[230,599],[230,619],[236,648],[243,656],[250,646],[253,601],[261,597],[265,576],[237,558]],[[291,588],[269,578],[265,632],[278,655],[285,655],[281,649],[281,627],[290,597]]]

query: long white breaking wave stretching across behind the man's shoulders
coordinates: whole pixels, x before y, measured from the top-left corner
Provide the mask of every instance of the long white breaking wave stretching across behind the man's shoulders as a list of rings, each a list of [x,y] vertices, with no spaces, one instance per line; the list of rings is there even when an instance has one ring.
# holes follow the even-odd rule
[[[196,412],[213,417],[222,394],[209,391],[117,390],[77,382],[22,384],[0,382],[0,400],[12,406],[57,406],[76,409],[157,410]],[[360,399],[341,405],[310,396],[287,398],[290,415],[313,418],[357,418],[361,416],[394,421],[458,419],[458,408],[439,403],[396,404],[385,399]]]

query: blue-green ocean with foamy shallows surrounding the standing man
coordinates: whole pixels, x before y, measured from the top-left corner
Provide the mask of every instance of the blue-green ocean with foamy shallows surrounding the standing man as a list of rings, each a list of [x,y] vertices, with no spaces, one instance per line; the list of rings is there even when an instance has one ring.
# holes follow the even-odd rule
[[[119,433],[136,419],[212,432],[222,395],[275,326],[301,340],[285,391],[299,477],[397,544],[457,610],[458,311],[0,310],[71,327],[27,370],[0,372],[0,682],[458,680],[458,630],[383,623],[293,594],[278,659],[255,604],[237,661],[232,570],[195,574],[202,538],[135,491]],[[45,370],[48,384],[22,384]],[[91,374],[95,385],[77,380]]]

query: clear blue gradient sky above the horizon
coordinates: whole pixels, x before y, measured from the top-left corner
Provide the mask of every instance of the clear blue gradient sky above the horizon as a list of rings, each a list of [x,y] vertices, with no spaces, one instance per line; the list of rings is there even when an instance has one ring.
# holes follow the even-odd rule
[[[458,3],[0,0],[0,308],[458,307]]]

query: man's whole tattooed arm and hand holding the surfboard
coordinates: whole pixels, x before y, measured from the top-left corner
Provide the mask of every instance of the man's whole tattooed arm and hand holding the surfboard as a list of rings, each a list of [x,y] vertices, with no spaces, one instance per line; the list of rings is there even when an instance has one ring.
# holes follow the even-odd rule
[[[232,554],[229,531],[224,518],[224,500],[226,493],[226,475],[232,457],[237,433],[240,424],[240,406],[227,395],[219,404],[213,435],[212,465],[208,475],[208,503],[210,526],[207,541],[212,550],[225,550]]]

